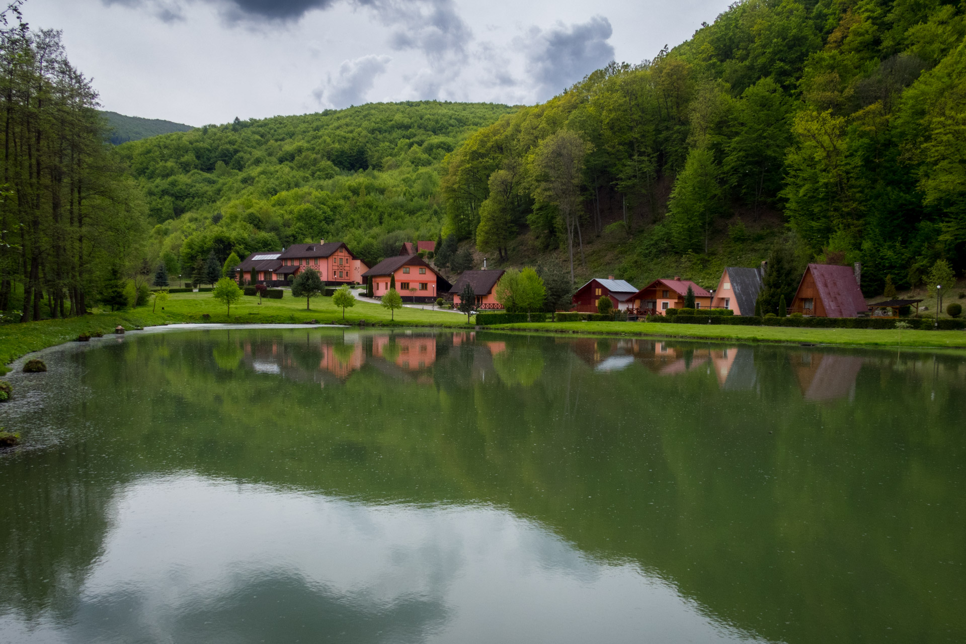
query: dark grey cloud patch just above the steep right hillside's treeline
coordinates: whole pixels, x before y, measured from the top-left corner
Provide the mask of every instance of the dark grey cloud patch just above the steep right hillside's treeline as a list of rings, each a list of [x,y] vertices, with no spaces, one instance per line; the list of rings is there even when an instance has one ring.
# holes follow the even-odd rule
[[[603,15],[569,28],[558,23],[547,31],[531,29],[524,44],[526,71],[538,87],[536,98],[551,98],[610,63],[614,52],[607,41],[612,33],[611,21]]]

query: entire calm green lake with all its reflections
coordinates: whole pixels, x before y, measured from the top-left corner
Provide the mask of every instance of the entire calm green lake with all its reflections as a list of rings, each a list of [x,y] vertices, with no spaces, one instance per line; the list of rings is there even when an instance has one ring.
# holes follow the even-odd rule
[[[963,642],[966,360],[151,330],[0,425],[0,642]]]

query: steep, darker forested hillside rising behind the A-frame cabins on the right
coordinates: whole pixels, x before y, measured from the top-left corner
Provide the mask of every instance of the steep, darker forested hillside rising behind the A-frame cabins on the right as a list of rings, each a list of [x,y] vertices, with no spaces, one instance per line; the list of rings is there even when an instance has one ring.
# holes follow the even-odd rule
[[[610,261],[634,281],[713,286],[769,249],[862,262],[867,294],[939,258],[959,272],[963,33],[963,5],[935,0],[735,4],[654,60],[471,136],[447,159],[446,229],[491,254],[523,248],[526,227],[543,248],[572,235],[579,272]],[[582,260],[598,233],[611,253]]]

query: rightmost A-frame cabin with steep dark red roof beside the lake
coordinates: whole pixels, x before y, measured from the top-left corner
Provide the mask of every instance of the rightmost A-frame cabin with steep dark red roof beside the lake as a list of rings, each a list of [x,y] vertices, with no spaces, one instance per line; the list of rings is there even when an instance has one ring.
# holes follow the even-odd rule
[[[866,298],[859,289],[861,271],[861,264],[854,268],[810,264],[787,312],[817,318],[857,318],[867,313]]]

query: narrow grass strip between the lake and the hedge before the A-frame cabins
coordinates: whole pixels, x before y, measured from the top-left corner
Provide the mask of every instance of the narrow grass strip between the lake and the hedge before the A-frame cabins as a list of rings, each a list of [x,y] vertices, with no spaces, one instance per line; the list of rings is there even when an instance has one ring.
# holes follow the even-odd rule
[[[788,342],[816,345],[897,347],[899,331],[866,328],[801,328],[794,326],[725,326],[665,322],[530,322],[494,324],[490,329],[547,331],[557,333],[621,334],[737,340],[741,342]],[[902,331],[903,347],[966,348],[966,331]]]

